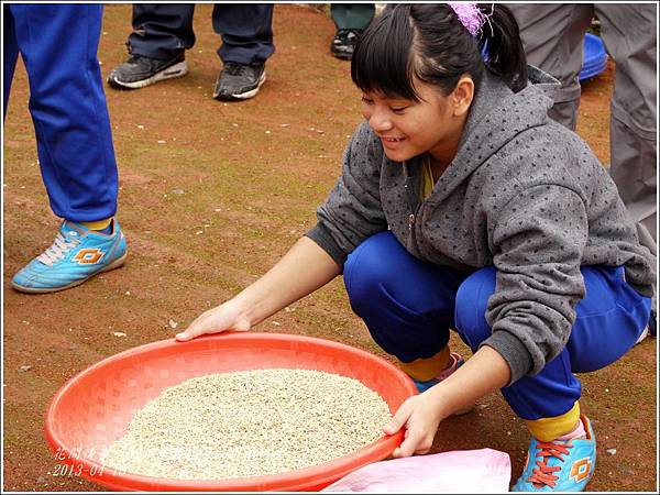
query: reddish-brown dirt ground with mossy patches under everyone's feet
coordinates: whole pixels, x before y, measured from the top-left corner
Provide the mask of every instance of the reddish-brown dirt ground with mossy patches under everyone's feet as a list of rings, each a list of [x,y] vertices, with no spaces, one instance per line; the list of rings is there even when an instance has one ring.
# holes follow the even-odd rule
[[[57,461],[43,424],[55,392],[103,358],[173,337],[263,274],[314,224],[316,207],[340,172],[361,116],[350,64],[329,53],[334,28],[327,14],[276,6],[276,53],[266,84],[256,98],[226,105],[211,99],[220,62],[210,12],[209,4],[197,7],[188,76],[138,91],[107,89],[120,168],[118,219],[130,258],[121,270],[52,295],[23,295],[9,285],[50,245],[58,226],[36,165],[19,64],[3,144],[6,491],[99,490],[76,476],[54,475]],[[125,58],[130,25],[129,4],[107,7],[99,53],[103,76]],[[612,82],[610,65],[584,85],[581,106],[579,132],[603,163]],[[337,339],[382,354],[351,312],[341,279],[257,330]],[[597,471],[587,490],[657,491],[657,340],[581,378],[582,406],[598,439]],[[522,422],[494,394],[474,413],[444,421],[433,452],[484,447],[508,452],[514,482],[527,442]]]

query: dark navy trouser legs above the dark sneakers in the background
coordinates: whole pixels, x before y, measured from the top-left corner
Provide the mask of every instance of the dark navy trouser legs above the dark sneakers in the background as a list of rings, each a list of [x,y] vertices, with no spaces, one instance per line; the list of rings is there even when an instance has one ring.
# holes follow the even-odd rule
[[[133,3],[130,52],[166,61],[193,47],[194,13],[191,3]],[[272,3],[216,3],[212,16],[222,62],[263,64],[275,52]]]

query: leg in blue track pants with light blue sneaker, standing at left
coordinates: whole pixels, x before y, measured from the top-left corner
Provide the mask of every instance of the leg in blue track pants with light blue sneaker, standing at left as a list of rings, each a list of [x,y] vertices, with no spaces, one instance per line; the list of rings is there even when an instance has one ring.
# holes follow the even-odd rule
[[[114,220],[118,173],[97,58],[103,8],[4,8],[4,25],[13,28],[4,32],[6,47],[10,55],[18,48],[28,72],[42,177],[53,212],[64,219],[53,245],[16,273],[12,286],[50,293],[119,267],[127,256]],[[4,59],[6,75],[15,62],[14,55]],[[11,80],[4,84],[8,96]]]

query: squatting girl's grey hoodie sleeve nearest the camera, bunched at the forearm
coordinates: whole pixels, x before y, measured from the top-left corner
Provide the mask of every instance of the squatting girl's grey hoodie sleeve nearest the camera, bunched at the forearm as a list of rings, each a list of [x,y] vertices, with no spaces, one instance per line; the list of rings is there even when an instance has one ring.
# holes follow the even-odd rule
[[[493,334],[483,344],[507,361],[510,383],[539,373],[569,340],[584,297],[587,232],[583,198],[565,186],[530,187],[499,212],[492,234],[496,288],[486,310]]]

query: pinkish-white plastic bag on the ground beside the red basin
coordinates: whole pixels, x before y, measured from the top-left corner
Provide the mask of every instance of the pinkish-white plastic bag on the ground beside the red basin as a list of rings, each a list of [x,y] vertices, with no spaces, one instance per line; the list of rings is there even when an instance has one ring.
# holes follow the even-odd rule
[[[504,493],[512,464],[493,449],[458,450],[375,462],[360,468],[322,492]]]

